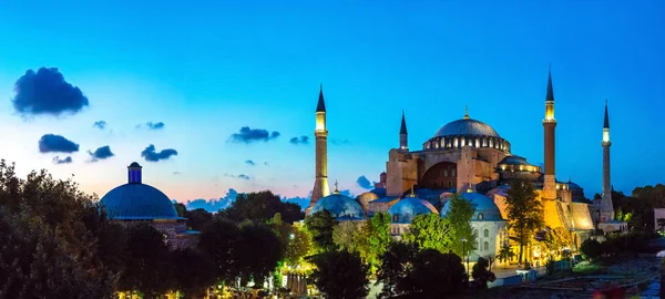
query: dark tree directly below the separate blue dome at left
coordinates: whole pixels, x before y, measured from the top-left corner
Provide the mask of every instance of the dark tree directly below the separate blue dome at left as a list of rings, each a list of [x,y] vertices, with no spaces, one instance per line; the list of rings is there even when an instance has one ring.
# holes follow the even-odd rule
[[[170,258],[168,246],[162,233],[147,223],[130,226],[121,288],[140,290],[144,298],[163,295],[173,286]]]

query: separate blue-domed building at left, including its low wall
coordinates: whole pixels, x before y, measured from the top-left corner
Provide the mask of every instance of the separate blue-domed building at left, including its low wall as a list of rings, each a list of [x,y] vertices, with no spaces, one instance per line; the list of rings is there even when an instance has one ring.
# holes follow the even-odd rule
[[[187,230],[187,219],[177,216],[164,193],[143,184],[142,168],[139,163],[132,163],[127,166],[127,184],[113,188],[100,199],[108,217],[124,225],[149,223],[164,235],[173,249],[195,245],[198,231]]]

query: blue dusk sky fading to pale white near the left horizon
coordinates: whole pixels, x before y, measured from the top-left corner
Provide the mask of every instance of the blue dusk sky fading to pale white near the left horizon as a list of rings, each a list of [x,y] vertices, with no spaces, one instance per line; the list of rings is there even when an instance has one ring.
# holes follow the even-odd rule
[[[134,161],[178,202],[229,188],[306,197],[323,83],[329,181],[358,195],[397,147],[402,110],[411,150],[468,105],[542,164],[551,64],[557,178],[601,192],[607,99],[612,183],[630,193],[665,183],[664,13],[664,1],[4,0],[0,156],[21,176],[74,174],[100,197]],[[82,94],[14,89],[58,73]]]

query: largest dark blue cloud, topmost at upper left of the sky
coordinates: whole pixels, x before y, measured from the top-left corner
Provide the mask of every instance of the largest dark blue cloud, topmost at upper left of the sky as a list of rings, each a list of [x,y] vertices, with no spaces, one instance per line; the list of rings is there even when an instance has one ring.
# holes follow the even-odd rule
[[[22,115],[75,114],[88,106],[88,97],[79,87],[64,81],[57,68],[25,71],[14,84],[13,107]]]

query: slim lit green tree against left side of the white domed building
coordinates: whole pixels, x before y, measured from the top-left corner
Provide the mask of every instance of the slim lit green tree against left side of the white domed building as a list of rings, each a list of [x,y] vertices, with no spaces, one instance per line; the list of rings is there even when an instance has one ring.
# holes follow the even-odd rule
[[[453,194],[450,197],[449,205],[450,209],[446,218],[450,224],[450,234],[452,235],[450,249],[458,256],[468,257],[469,252],[477,249],[475,240],[478,239],[478,234],[473,230],[470,223],[475,213],[475,207],[471,202],[458,194]]]

